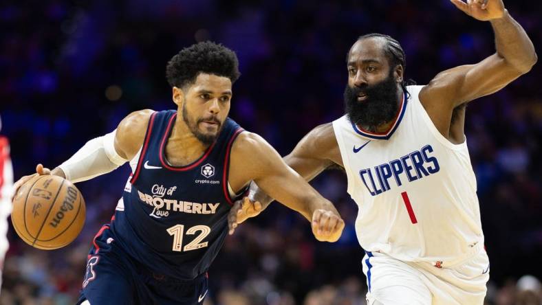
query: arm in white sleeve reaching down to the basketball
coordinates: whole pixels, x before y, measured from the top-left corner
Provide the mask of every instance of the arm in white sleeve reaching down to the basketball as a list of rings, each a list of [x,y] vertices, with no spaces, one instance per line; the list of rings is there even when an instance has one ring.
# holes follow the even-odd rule
[[[129,114],[115,131],[91,139],[75,155],[53,170],[38,164],[36,173],[21,177],[14,183],[13,194],[17,194],[21,185],[35,175],[54,174],[75,183],[115,170],[138,153],[152,113],[147,109]]]

